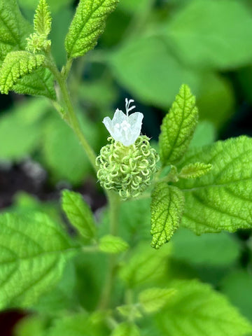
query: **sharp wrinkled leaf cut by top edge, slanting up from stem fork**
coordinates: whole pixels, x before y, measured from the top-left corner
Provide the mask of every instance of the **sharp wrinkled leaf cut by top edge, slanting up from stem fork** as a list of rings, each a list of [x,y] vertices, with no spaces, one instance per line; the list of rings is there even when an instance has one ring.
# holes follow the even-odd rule
[[[80,0],[65,40],[69,58],[83,56],[97,45],[106,18],[116,9],[117,3],[118,0]]]

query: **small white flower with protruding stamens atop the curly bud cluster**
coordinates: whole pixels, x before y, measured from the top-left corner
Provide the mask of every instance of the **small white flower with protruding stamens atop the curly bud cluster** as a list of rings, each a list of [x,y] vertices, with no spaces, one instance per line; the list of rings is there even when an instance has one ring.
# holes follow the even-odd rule
[[[134,100],[125,99],[126,114],[119,109],[113,116],[113,119],[106,117],[103,122],[106,129],[111,134],[114,140],[120,141],[124,146],[130,146],[134,144],[141,132],[142,120],[144,118],[143,113],[134,112],[129,116],[129,112],[136,108],[136,106],[130,106]]]

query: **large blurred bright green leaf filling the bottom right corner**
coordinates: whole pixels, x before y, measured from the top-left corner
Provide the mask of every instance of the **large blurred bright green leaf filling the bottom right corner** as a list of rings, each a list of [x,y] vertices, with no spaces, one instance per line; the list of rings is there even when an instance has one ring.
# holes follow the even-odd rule
[[[232,307],[225,296],[197,281],[174,281],[178,290],[158,314],[162,335],[242,336],[252,331],[246,318]]]

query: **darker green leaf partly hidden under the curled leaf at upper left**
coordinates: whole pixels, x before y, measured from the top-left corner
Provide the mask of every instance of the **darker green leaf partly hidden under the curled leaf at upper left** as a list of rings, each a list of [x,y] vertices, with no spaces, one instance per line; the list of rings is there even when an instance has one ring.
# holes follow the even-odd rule
[[[44,96],[56,100],[54,78],[46,68],[40,67],[33,73],[20,78],[13,85],[13,90],[19,94],[30,94],[31,96]]]

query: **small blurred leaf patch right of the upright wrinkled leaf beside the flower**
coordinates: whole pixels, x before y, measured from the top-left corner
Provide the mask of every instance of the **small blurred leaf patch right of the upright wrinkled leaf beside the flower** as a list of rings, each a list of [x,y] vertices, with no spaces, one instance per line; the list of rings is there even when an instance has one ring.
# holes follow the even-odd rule
[[[207,120],[200,121],[200,123],[198,123],[196,126],[189,148],[202,147],[204,145],[213,144],[215,140],[216,129],[214,125]]]

